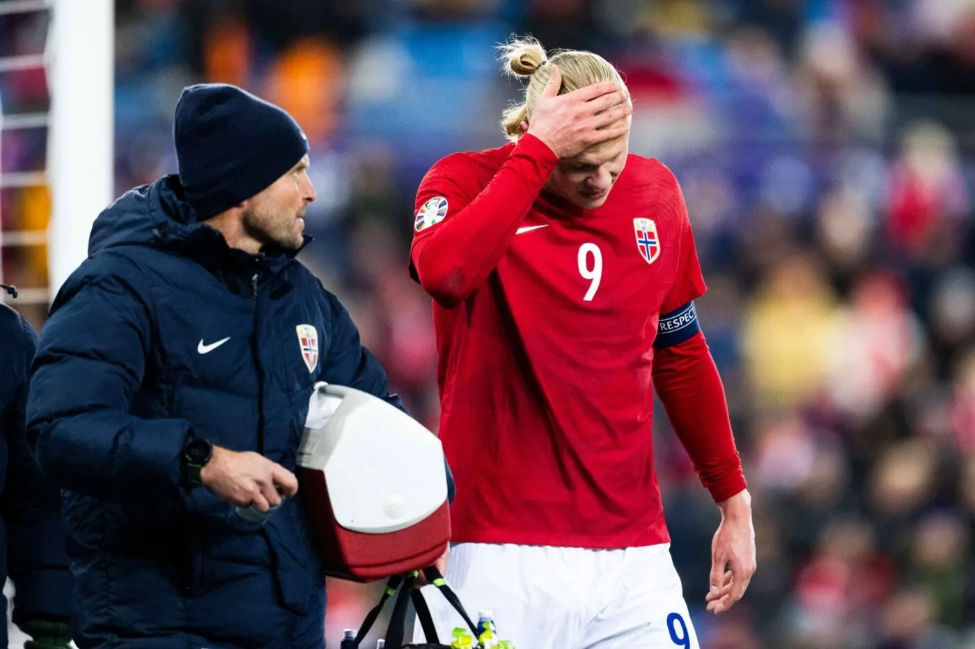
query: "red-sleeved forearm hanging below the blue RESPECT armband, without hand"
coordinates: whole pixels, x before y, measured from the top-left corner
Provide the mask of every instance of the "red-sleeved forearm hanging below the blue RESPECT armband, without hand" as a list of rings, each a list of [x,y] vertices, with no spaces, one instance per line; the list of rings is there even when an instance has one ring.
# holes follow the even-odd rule
[[[722,379],[702,333],[654,352],[653,385],[715,502],[743,491]]]

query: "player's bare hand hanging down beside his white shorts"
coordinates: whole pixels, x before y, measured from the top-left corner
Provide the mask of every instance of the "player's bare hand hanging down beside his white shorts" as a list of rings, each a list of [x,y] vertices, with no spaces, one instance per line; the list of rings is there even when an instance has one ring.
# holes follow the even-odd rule
[[[709,611],[723,613],[741,599],[755,574],[755,527],[747,490],[718,507],[722,522],[711,544],[711,592],[706,599]]]

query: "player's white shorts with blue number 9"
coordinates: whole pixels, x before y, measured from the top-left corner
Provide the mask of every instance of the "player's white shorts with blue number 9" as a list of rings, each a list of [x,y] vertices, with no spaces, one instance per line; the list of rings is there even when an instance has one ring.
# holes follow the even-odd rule
[[[516,649],[699,649],[670,544],[623,550],[456,544],[450,587],[477,622],[490,609]],[[423,589],[441,642],[466,627]],[[419,624],[414,642],[423,641]]]

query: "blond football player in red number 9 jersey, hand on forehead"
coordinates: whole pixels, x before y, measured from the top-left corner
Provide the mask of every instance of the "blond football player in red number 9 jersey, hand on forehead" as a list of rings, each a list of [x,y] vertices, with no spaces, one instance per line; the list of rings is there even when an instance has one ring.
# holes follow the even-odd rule
[[[526,649],[696,648],[653,472],[653,389],[722,513],[708,610],[742,596],[756,557],[681,189],[629,153],[629,93],[604,58],[549,58],[532,39],[504,52],[528,78],[511,142],[427,172],[410,250],[434,299],[456,473],[448,581]],[[449,635],[459,619],[431,603]]]

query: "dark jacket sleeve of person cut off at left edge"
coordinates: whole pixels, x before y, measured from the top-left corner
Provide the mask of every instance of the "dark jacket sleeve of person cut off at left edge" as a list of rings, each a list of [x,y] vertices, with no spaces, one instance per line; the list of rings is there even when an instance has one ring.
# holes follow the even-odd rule
[[[7,439],[7,483],[0,492],[0,515],[7,528],[10,577],[17,587],[14,622],[31,619],[67,621],[71,606],[71,577],[64,551],[64,528],[58,489],[34,463],[23,434],[24,403],[30,360],[37,338],[20,322],[16,337],[5,344],[15,349],[2,371],[16,386],[3,405],[2,431]],[[5,378],[5,380],[6,380]]]

